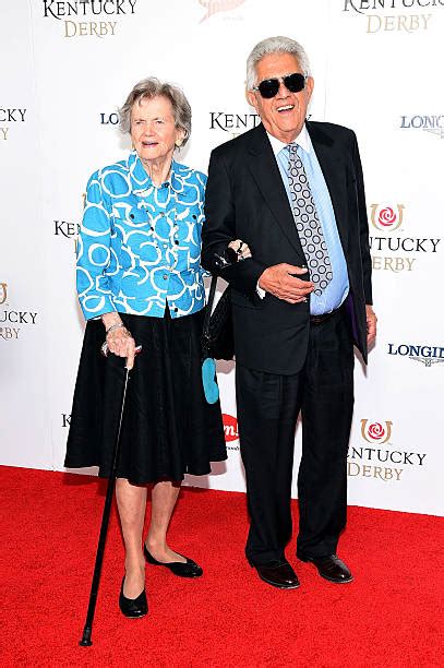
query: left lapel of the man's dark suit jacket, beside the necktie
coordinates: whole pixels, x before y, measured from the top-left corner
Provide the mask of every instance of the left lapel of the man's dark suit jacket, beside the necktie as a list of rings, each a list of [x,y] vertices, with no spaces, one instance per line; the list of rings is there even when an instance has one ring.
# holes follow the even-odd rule
[[[276,223],[303,259],[303,251],[299,241],[298,230],[296,229],[295,218],[287,192],[283,183],[279,168],[273,153],[272,145],[265,132],[265,128],[257,126],[251,134],[250,154],[253,159],[249,167],[257,183],[262,196],[271,208]]]

